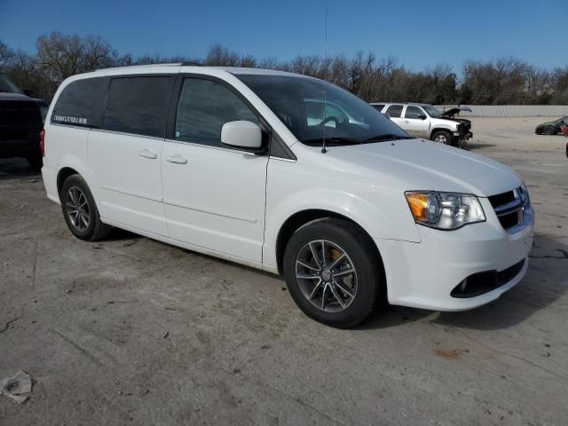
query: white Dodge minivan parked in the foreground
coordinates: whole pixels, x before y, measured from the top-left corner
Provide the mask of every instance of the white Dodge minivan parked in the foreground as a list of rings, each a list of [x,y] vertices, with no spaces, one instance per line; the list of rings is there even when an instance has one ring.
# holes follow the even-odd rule
[[[283,274],[302,311],[335,327],[384,301],[474,308],[528,266],[534,216],[517,173],[412,138],[303,75],[184,64],[75,75],[42,146],[47,196],[76,237],[116,226]]]

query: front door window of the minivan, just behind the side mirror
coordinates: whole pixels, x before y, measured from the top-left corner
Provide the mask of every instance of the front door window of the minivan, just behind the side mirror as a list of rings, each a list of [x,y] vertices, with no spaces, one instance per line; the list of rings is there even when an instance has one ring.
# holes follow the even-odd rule
[[[186,78],[179,95],[174,138],[210,146],[223,146],[221,128],[225,122],[247,120],[259,124],[237,95],[224,85]]]

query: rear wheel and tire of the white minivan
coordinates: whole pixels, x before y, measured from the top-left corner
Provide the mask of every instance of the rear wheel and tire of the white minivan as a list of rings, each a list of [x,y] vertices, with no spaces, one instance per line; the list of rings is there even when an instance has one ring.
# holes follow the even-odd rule
[[[101,240],[112,229],[112,226],[100,221],[99,209],[83,177],[79,175],[67,177],[59,193],[59,200],[65,222],[78,239]],[[80,209],[77,209],[77,206]]]

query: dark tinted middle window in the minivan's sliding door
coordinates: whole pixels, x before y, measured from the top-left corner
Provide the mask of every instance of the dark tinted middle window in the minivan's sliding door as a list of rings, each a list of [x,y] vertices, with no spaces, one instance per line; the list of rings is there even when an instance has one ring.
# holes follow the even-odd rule
[[[170,76],[114,78],[103,129],[163,138],[171,81]]]

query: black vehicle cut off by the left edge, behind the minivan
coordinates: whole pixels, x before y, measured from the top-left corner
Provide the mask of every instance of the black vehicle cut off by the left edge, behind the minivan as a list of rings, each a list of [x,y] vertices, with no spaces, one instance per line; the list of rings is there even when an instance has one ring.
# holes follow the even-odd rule
[[[32,170],[42,169],[39,133],[47,107],[0,75],[0,158],[26,158]]]

